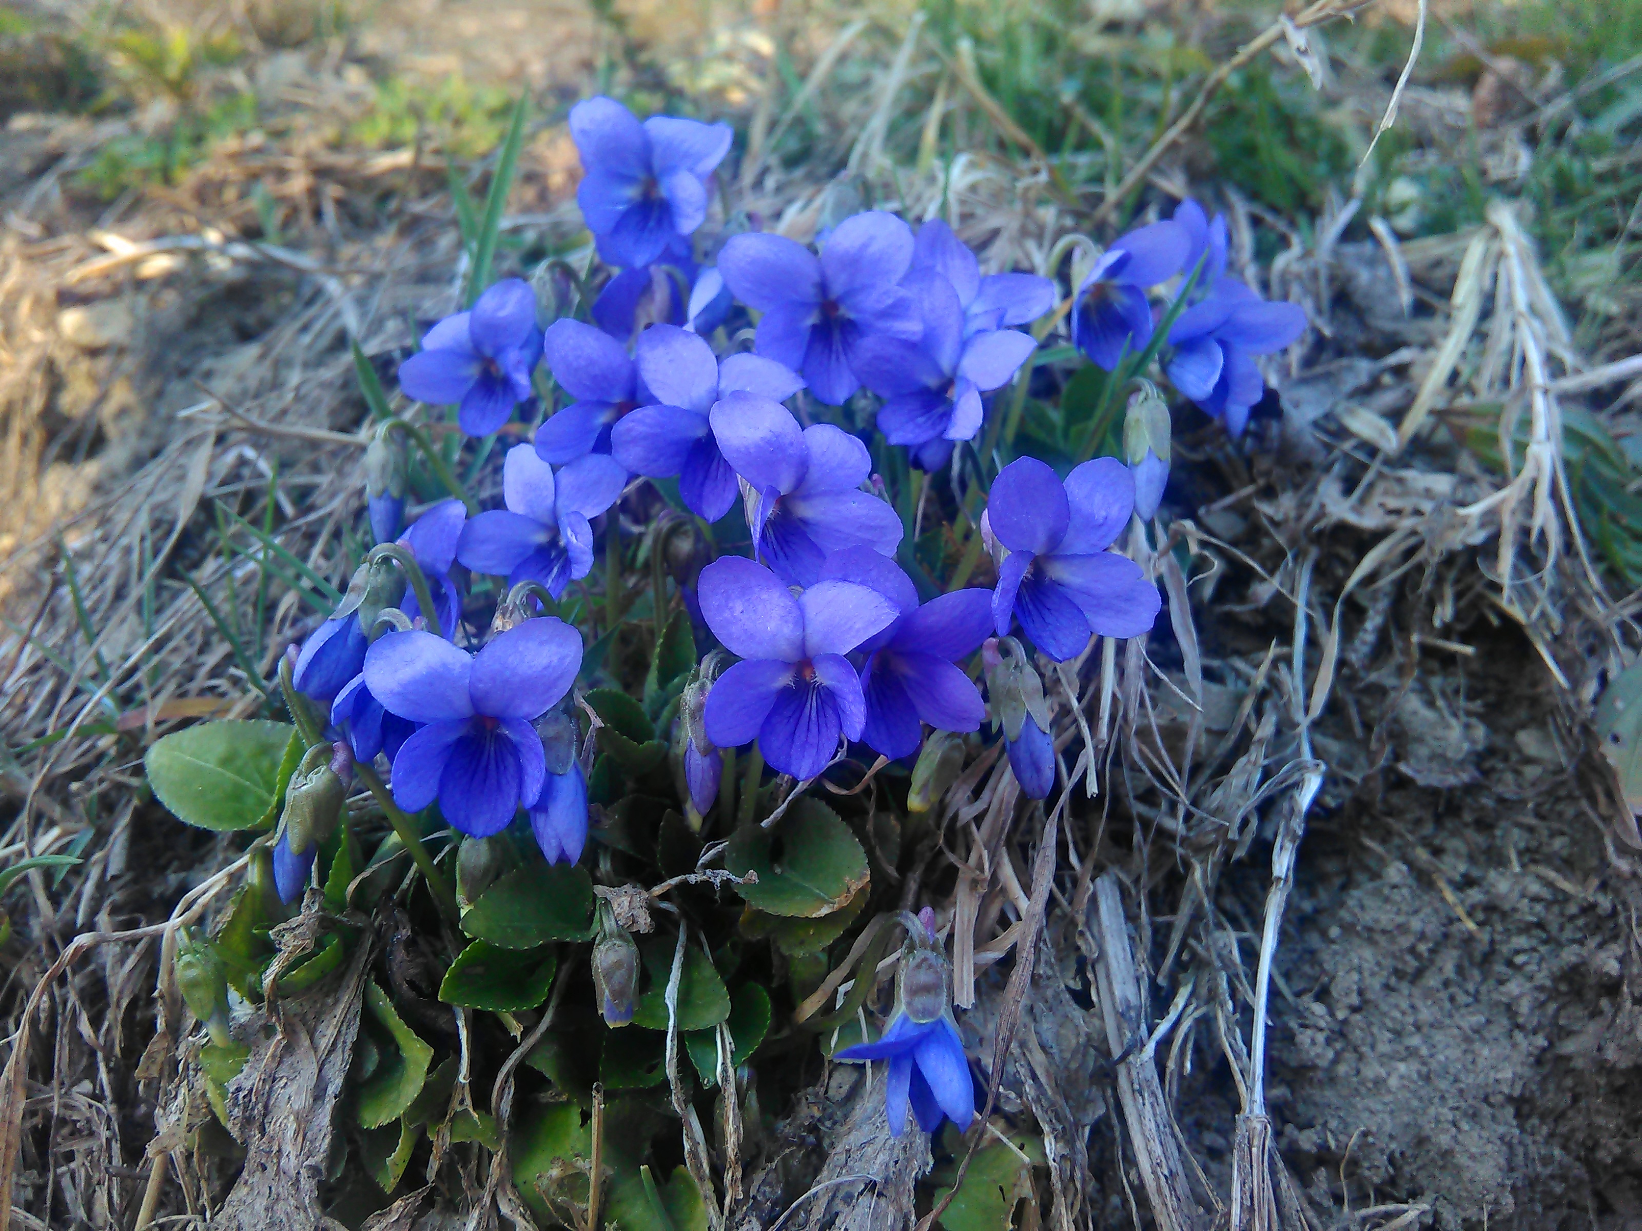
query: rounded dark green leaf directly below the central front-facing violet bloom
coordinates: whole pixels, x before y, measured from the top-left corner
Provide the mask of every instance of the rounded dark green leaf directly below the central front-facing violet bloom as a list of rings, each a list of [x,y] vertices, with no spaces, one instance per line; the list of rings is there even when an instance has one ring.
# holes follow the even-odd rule
[[[849,826],[808,796],[795,801],[773,829],[737,829],[724,863],[737,876],[759,873],[757,885],[736,886],[749,906],[800,919],[842,909],[869,880],[867,852]]]

